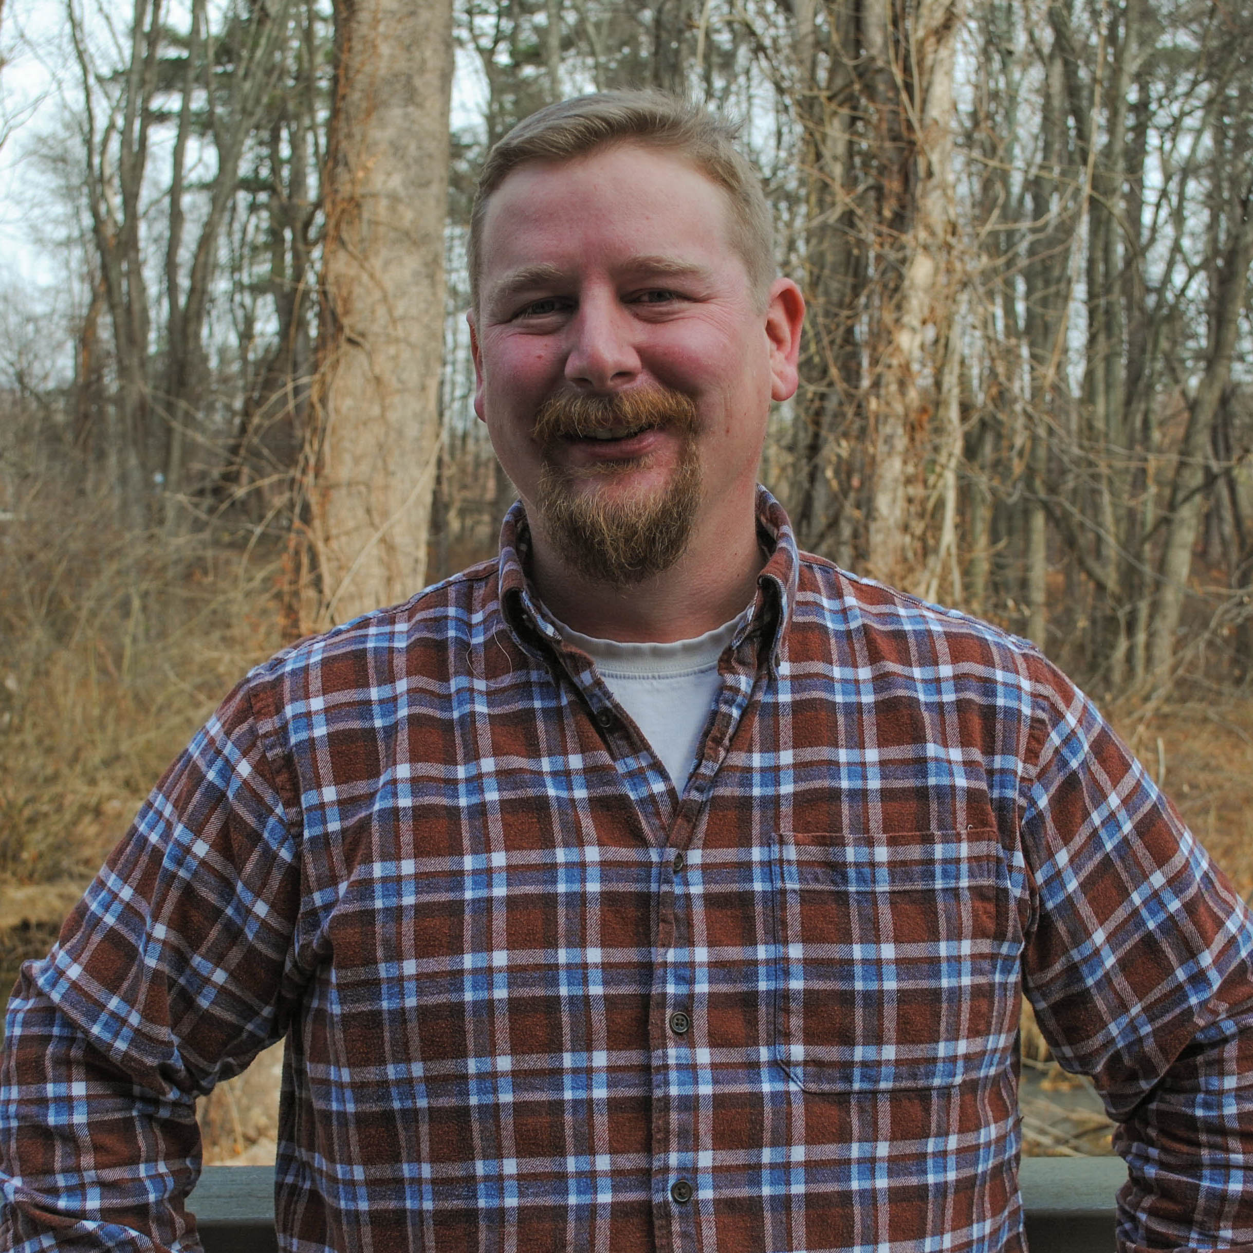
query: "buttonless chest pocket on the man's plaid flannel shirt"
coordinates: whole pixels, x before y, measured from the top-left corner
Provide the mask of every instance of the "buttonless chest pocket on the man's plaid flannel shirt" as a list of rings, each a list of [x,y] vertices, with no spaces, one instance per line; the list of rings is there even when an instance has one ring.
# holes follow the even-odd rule
[[[781,833],[774,1060],[806,1091],[946,1088],[999,1071],[1021,935],[994,831]]]

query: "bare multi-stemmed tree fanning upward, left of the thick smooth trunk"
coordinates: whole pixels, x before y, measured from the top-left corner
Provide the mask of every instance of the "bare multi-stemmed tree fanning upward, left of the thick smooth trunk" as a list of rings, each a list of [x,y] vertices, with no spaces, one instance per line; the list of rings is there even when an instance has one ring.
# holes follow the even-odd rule
[[[99,63],[90,34],[108,18],[66,0],[81,89],[85,193],[118,378],[110,442],[119,497],[133,523],[150,520],[153,501],[163,504],[167,525],[185,521],[187,447],[204,439],[204,337],[222,229],[246,145],[281,73],[291,8],[291,0],[244,3],[227,10],[221,29],[211,29],[204,0],[193,0],[187,31],[175,36],[163,0],[135,0],[125,59],[109,66]],[[174,125],[169,167],[154,169],[153,132],[168,123]],[[202,162],[212,152],[214,165],[194,188],[187,177],[193,147]],[[152,184],[165,178],[165,194],[154,194]],[[195,237],[188,244],[193,198]],[[160,208],[165,317],[154,335],[149,257]]]

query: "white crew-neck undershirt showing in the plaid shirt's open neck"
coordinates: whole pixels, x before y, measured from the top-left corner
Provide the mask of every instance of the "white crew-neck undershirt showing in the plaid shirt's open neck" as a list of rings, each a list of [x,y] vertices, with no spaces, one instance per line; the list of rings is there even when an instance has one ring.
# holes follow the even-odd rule
[[[718,658],[752,613],[695,639],[673,644],[621,644],[596,639],[549,614],[561,638],[586,653],[614,699],[632,715],[682,796],[700,751],[722,677]]]

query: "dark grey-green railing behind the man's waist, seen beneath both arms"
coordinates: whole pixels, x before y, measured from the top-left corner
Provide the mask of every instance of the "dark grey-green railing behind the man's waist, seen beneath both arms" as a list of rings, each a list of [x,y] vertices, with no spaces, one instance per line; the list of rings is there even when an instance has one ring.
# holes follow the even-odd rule
[[[1031,1253],[1111,1253],[1121,1158],[1025,1158],[1019,1173]],[[274,1172],[208,1167],[192,1198],[205,1253],[274,1253]]]

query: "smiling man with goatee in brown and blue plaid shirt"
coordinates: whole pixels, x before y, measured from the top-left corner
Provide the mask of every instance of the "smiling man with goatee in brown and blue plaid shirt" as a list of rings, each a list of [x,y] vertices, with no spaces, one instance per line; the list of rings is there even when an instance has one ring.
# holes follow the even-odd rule
[[[797,553],[728,133],[546,109],[471,258],[500,558],[254,670],[26,969],[6,1247],[185,1247],[286,1036],[284,1248],[1020,1249],[1024,986],[1123,1248],[1253,1243],[1243,907],[1030,645]]]

